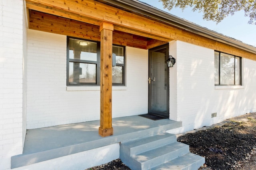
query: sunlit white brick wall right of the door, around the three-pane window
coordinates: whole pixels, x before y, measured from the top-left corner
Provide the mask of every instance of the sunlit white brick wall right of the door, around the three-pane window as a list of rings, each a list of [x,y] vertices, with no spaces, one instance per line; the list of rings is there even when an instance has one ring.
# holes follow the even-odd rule
[[[172,46],[177,46],[172,48]],[[170,43],[170,51],[176,56],[177,99],[170,95],[170,102],[177,102],[177,113],[171,115],[182,121],[183,127],[168,131],[181,133],[202,126],[212,125],[224,119],[256,111],[256,62],[243,59],[244,87],[216,89],[214,86],[214,50],[181,41]],[[177,71],[176,71],[177,70]],[[174,73],[171,73],[174,72]],[[175,73],[176,72],[176,73]],[[175,75],[174,75],[175,76]],[[175,78],[170,77],[170,84]],[[170,104],[171,110],[171,104]],[[212,113],[217,117],[211,118]],[[175,119],[177,116],[177,119]]]

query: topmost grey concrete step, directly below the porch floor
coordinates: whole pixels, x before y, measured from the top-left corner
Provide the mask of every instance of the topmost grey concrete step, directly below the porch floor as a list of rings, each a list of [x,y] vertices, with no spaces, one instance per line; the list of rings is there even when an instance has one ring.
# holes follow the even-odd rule
[[[132,156],[174,142],[176,142],[176,135],[161,133],[151,137],[121,143],[120,154],[122,155],[124,152],[128,156]]]

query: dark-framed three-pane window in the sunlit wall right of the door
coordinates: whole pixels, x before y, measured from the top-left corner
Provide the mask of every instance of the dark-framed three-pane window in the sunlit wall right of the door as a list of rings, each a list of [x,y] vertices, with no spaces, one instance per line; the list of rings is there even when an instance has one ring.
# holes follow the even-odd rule
[[[241,63],[241,57],[215,51],[215,86],[242,85]]]

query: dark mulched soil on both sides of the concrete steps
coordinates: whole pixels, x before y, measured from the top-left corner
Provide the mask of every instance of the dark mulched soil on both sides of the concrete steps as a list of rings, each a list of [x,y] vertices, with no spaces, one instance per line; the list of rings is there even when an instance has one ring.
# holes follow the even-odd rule
[[[256,113],[230,119],[219,127],[178,137],[190,152],[205,157],[200,170],[256,169]],[[240,121],[242,120],[242,121]],[[87,170],[130,170],[120,159]]]

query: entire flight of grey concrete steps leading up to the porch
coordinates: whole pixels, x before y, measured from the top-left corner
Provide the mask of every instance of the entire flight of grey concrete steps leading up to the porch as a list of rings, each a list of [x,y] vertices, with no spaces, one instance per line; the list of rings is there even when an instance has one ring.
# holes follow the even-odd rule
[[[197,170],[205,160],[176,141],[176,135],[162,133],[120,144],[120,159],[132,170]]]

